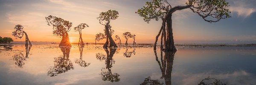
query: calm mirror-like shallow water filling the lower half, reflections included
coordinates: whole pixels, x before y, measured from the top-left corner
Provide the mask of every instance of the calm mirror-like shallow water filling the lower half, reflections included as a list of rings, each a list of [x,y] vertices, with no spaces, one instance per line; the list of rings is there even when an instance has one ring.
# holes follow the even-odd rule
[[[24,46],[0,47],[0,85],[256,84],[255,46],[177,47],[162,56],[148,45]]]

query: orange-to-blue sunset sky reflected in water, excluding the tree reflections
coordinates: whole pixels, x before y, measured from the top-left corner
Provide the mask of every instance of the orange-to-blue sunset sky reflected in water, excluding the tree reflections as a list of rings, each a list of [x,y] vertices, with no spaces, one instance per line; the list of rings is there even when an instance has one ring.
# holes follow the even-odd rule
[[[89,62],[89,66],[84,68],[75,63],[75,60],[80,58],[80,52],[77,45],[73,45],[69,59],[73,62],[74,69],[49,77],[47,72],[49,67],[54,65],[54,57],[63,55],[57,45],[33,45],[23,68],[15,65],[11,58],[17,50],[25,53],[24,45],[14,45],[12,51],[0,51],[0,85],[138,85],[146,77],[165,82],[160,79],[162,74],[152,48],[136,48],[136,54],[131,57],[124,57],[126,48],[121,48],[118,54],[113,55],[115,63],[111,67],[112,73],[120,75],[120,81],[103,81],[100,72],[106,65],[104,60],[96,59],[96,53],[106,52],[102,48],[95,50],[92,46],[94,45],[85,46],[83,49],[83,60]],[[134,48],[128,48],[128,51],[133,50]],[[207,77],[232,85],[254,84],[255,53],[255,47],[179,49],[173,62],[172,84],[197,85]],[[157,51],[157,55],[160,60],[160,51]]]

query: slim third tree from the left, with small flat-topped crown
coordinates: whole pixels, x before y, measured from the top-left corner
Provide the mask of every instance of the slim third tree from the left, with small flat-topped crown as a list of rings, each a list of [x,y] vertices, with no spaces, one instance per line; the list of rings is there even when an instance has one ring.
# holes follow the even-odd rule
[[[89,26],[86,23],[81,23],[80,25],[78,25],[77,27],[74,28],[75,31],[79,31],[79,35],[80,35],[79,42],[78,42],[79,45],[84,46],[81,31],[82,31],[82,29],[87,28],[87,27],[89,27]]]

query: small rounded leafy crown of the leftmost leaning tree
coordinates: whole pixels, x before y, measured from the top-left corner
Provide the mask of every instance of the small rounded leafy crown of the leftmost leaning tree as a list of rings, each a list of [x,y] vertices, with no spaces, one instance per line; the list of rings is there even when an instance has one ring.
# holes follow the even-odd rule
[[[16,25],[15,26],[15,31],[12,32],[12,36],[16,37],[16,39],[21,39],[24,35],[24,31],[23,31],[23,26],[21,25]]]

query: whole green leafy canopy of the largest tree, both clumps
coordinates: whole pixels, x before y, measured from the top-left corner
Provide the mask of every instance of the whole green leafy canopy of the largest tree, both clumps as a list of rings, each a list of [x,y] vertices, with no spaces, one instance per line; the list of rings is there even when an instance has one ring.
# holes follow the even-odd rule
[[[197,13],[205,21],[212,23],[218,22],[221,19],[231,17],[231,13],[226,9],[229,5],[226,0],[188,0],[186,3],[187,7],[190,8],[194,13]],[[146,2],[143,8],[137,10],[137,12],[143,20],[147,23],[151,19],[159,20],[159,18],[164,18],[167,14],[172,14],[177,10],[183,10],[182,6],[172,6],[167,2],[167,0],[151,0]]]

